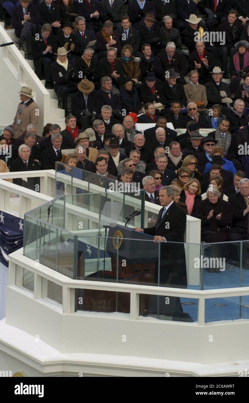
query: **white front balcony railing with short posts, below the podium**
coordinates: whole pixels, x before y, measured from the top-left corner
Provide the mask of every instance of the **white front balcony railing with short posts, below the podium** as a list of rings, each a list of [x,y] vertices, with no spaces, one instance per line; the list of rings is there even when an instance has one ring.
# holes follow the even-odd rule
[[[189,290],[168,287],[154,287],[135,284],[108,283],[102,281],[73,280],[52,270],[42,264],[34,265],[34,261],[23,256],[23,249],[19,249],[9,255],[9,285],[19,286],[16,278],[16,269],[25,268],[34,274],[34,299],[44,298],[42,295],[42,278],[49,280],[62,287],[62,314],[74,314],[75,290],[91,289],[98,291],[113,291],[130,294],[130,320],[139,318],[139,295],[163,295],[165,297],[194,298],[198,300],[198,326],[208,326],[205,323],[205,300],[210,298],[243,297],[249,295],[249,287],[212,289],[212,290]],[[51,309],[51,305],[47,304]],[[229,320],[227,320],[228,322]],[[245,319],[248,322],[248,320]],[[161,321],[166,322],[166,321]],[[236,322],[234,322],[236,324]],[[191,325],[191,324],[190,324]],[[196,323],[192,325],[196,326]]]

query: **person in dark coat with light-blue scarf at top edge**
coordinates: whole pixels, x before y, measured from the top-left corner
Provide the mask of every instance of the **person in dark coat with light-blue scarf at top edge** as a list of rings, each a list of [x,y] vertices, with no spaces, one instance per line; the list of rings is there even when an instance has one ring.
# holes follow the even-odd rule
[[[132,0],[128,5],[128,16],[130,17],[132,27],[139,26],[140,21],[147,13],[151,13],[156,18],[156,7],[153,2],[148,0]]]

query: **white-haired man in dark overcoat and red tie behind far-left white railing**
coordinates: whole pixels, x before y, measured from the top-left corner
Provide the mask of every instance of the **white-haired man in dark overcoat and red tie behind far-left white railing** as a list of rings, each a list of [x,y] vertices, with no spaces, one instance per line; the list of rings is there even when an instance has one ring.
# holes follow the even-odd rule
[[[28,145],[22,144],[18,149],[19,156],[12,162],[10,162],[10,172],[23,172],[23,171],[36,171],[40,170],[38,162],[30,158],[30,148]],[[22,179],[23,178],[23,179]],[[24,175],[21,178],[13,179],[14,185],[27,187],[28,189],[40,191],[40,178],[27,178],[24,179]]]

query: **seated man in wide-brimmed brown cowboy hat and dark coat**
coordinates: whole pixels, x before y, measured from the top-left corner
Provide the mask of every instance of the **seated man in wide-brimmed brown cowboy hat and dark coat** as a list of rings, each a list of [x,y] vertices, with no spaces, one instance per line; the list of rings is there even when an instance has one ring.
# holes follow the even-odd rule
[[[81,129],[87,129],[95,120],[96,112],[94,112],[96,104],[95,85],[92,81],[83,79],[77,85],[78,91],[72,95],[71,110],[77,118],[78,125]]]

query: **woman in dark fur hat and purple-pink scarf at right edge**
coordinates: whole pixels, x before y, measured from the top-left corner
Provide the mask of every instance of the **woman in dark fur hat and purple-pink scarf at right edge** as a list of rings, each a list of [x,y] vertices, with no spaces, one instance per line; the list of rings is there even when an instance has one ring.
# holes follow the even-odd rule
[[[235,44],[237,52],[233,56],[231,71],[230,93],[236,94],[237,88],[245,73],[249,73],[249,42],[239,41]],[[232,98],[235,98],[233,96]]]

